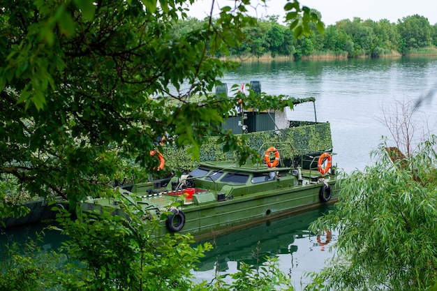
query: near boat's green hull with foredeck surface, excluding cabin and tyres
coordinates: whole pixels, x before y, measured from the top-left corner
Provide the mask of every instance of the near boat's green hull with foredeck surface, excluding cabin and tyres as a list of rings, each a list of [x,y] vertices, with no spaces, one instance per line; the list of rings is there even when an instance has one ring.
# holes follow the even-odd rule
[[[195,239],[205,239],[218,233],[230,232],[240,227],[247,227],[260,221],[286,216],[332,204],[338,200],[339,187],[336,179],[330,181],[318,181],[316,183],[304,182],[303,185],[296,185],[296,181],[272,181],[254,188],[242,187],[242,191],[235,191],[234,195],[228,195],[224,200],[217,199],[215,193],[202,188],[195,188],[195,193],[190,202],[187,202],[184,191],[180,195],[139,195],[145,204],[164,205],[178,202],[181,205],[177,211],[170,216],[184,216],[183,225],[169,229],[168,220],[160,221],[156,229],[156,237],[162,237],[167,233],[179,232],[190,233]],[[290,184],[292,183],[292,184]],[[322,199],[320,192],[323,187],[329,185],[332,190],[329,200]],[[258,189],[257,189],[258,188]],[[176,191],[173,191],[176,192]],[[112,199],[89,200],[82,204],[84,211],[110,208],[113,214],[125,216]],[[170,208],[168,208],[170,209]],[[180,216],[179,216],[180,218]]]

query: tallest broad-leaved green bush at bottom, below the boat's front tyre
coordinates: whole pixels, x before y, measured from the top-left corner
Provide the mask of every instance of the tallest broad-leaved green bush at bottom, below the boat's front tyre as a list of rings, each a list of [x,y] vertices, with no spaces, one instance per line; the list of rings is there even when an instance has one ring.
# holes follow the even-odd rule
[[[189,235],[154,237],[158,221],[140,209],[127,209],[129,219],[102,213],[83,214],[71,221],[59,216],[64,243],[73,271],[59,271],[68,290],[189,290],[195,289],[190,273],[210,244],[191,247]]]

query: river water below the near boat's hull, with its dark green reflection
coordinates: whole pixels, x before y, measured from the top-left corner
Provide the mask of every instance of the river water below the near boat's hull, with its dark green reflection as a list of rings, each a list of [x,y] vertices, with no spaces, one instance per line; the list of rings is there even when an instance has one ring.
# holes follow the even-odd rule
[[[333,208],[328,205],[207,239],[205,241],[212,243],[214,249],[200,259],[195,277],[198,281],[212,281],[216,274],[237,273],[242,262],[257,266],[265,262],[266,257],[276,256],[279,268],[290,275],[295,285],[309,283],[311,280],[304,278],[304,273],[319,271],[325,260],[332,258],[329,246],[336,234],[328,230],[312,234],[308,227]]]

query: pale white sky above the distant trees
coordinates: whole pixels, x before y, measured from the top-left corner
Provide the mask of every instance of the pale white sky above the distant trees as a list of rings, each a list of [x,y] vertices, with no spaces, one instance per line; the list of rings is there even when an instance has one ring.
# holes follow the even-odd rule
[[[215,0],[216,5],[232,6],[234,0]],[[253,3],[256,2],[252,1]],[[188,15],[204,18],[211,10],[212,0],[196,1]],[[251,15],[265,17],[266,15],[280,15],[280,21],[285,12],[283,6],[286,0],[267,0],[267,8],[257,6],[251,8]],[[322,14],[325,25],[335,24],[339,20],[360,17],[362,20],[378,22],[382,19],[397,23],[403,17],[420,15],[428,18],[429,24],[437,23],[437,0],[300,0],[301,6],[314,8]]]

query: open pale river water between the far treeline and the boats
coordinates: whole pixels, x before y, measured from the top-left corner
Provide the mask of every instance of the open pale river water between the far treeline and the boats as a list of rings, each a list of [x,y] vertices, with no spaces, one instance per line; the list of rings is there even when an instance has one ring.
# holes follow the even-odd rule
[[[437,89],[437,57],[259,61],[244,64],[222,81],[230,88],[251,80],[259,80],[267,94],[315,97],[317,120],[331,123],[335,161],[351,172],[373,163],[369,153],[383,136],[393,140],[380,119]],[[437,95],[425,98],[413,114],[415,138],[422,137],[422,128],[436,133],[436,113]],[[313,120],[313,105],[297,105],[289,115]]]

